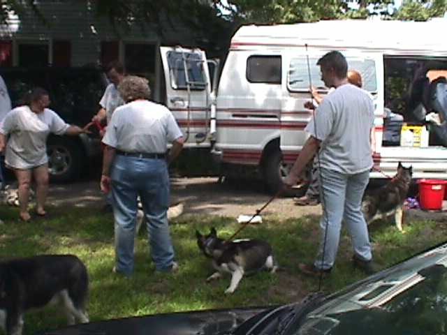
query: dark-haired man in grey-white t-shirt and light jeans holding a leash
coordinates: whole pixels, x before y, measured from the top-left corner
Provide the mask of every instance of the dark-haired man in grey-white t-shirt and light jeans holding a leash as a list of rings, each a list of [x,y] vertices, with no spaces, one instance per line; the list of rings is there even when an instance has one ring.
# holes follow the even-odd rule
[[[349,84],[348,64],[340,52],[328,52],[318,59],[317,65],[325,85],[335,87],[335,91],[324,98],[307,124],[305,130],[310,137],[284,179],[286,186],[295,185],[319,150],[323,205],[320,250],[312,265],[300,264],[299,268],[315,276],[330,272],[343,221],[353,243],[353,264],[372,273],[372,247],[361,203],[373,165],[370,135],[374,126],[374,104],[366,91]]]

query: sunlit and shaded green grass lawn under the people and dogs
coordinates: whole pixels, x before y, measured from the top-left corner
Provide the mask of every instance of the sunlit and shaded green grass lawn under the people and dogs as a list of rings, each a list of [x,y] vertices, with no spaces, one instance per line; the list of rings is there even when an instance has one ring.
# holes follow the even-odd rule
[[[90,276],[89,317],[91,321],[111,318],[188,311],[232,306],[259,306],[297,301],[318,289],[318,279],[302,276],[299,262],[314,259],[318,246],[318,217],[308,216],[281,221],[265,217],[261,225],[250,225],[239,237],[270,241],[279,265],[277,274],[261,273],[243,278],[233,295],[223,295],[229,276],[205,283],[212,273],[210,261],[198,250],[196,229],[207,233],[217,228],[221,237],[239,228],[232,218],[180,216],[171,223],[180,270],[177,274],[158,274],[150,261],[145,231],[140,231],[135,254],[135,274],[124,278],[112,273],[114,265],[113,222],[111,214],[96,209],[49,207],[49,218],[31,223],[17,221],[15,208],[3,208],[0,225],[0,258],[48,253],[73,253],[85,262]],[[414,253],[446,239],[447,225],[434,221],[413,221],[402,234],[390,223],[370,227],[374,258],[381,268],[408,258]],[[351,265],[351,243],[346,232],[340,240],[337,262],[323,281],[325,292],[334,292],[364,277]],[[24,334],[64,327],[64,315],[56,308],[25,315]]]

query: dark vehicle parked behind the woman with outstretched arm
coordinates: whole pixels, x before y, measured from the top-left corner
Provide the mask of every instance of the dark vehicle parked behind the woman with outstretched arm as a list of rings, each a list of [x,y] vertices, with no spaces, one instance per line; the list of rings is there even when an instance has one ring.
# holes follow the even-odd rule
[[[50,94],[50,109],[68,124],[85,126],[98,112],[107,79],[96,66],[80,68],[1,68],[13,107],[26,91],[43,87]],[[92,129],[94,131],[94,129]],[[57,136],[47,140],[48,167],[53,181],[73,181],[90,158],[101,155],[97,132],[91,135]]]

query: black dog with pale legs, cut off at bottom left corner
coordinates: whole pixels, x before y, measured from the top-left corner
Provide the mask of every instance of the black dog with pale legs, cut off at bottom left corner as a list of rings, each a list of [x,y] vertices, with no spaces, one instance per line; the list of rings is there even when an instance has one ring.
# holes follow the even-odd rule
[[[85,312],[88,292],[87,268],[74,255],[0,262],[0,327],[7,335],[21,335],[23,314],[49,304],[64,308],[68,325],[76,320],[89,322]]]

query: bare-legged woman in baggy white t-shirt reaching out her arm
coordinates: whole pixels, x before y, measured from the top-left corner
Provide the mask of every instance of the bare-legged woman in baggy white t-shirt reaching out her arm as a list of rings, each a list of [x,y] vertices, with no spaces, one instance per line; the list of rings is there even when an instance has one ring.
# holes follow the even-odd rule
[[[50,96],[45,89],[33,89],[26,105],[15,107],[0,128],[0,151],[6,148],[6,166],[12,168],[19,183],[20,218],[29,221],[29,188],[31,175],[36,182],[36,214],[44,216],[48,192],[48,157],[46,141],[50,133],[79,135],[87,130],[66,124],[56,112],[48,109]],[[9,135],[8,141],[6,137]]]

